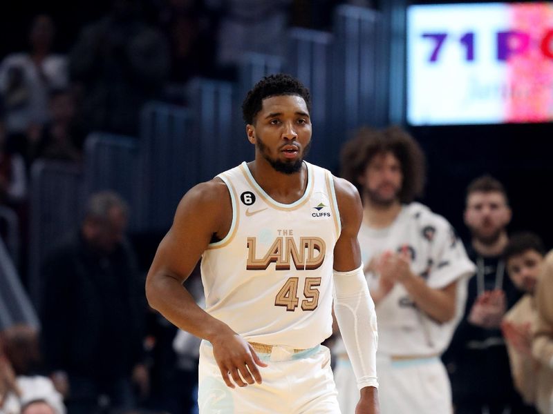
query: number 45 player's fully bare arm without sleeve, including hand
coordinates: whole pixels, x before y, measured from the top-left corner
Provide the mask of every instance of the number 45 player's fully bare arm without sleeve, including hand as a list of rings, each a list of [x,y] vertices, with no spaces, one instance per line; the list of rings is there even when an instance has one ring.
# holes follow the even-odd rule
[[[231,222],[232,205],[223,181],[213,179],[189,190],[153,259],[146,279],[146,297],[152,308],[178,328],[212,344],[223,380],[234,388],[230,377],[238,386],[261,383],[256,365],[265,364],[250,344],[227,324],[203,311],[182,286],[212,237],[223,239]]]

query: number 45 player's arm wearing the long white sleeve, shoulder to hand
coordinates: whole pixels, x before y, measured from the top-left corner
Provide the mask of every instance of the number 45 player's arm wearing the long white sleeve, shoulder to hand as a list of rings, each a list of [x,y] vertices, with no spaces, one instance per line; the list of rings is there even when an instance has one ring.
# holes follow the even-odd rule
[[[360,391],[356,414],[377,414],[375,304],[368,293],[357,233],[363,208],[357,189],[334,178],[341,233],[334,248],[334,311]]]

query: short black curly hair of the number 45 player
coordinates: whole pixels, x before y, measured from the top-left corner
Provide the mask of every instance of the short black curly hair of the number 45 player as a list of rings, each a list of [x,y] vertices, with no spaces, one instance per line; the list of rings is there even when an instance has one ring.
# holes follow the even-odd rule
[[[276,97],[279,95],[297,95],[306,101],[307,109],[311,112],[311,95],[308,88],[298,79],[278,73],[277,75],[268,75],[257,82],[250,90],[242,103],[242,115],[246,124],[253,124],[257,112],[263,106],[263,99]]]

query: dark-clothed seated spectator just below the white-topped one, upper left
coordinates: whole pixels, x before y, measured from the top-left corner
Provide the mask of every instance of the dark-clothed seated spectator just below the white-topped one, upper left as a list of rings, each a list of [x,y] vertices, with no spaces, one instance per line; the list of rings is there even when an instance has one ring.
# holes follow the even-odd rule
[[[32,159],[81,161],[84,137],[75,121],[75,98],[69,89],[54,89],[49,99],[50,122],[30,136]]]

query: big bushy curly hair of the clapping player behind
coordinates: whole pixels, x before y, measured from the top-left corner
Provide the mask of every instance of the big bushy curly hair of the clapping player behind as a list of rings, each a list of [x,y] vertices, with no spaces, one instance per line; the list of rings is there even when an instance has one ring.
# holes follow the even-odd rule
[[[425,178],[424,154],[419,144],[408,132],[398,126],[383,130],[361,128],[353,139],[346,142],[341,150],[341,177],[350,181],[363,194],[359,183],[368,163],[375,155],[390,152],[402,168],[403,184],[399,198],[402,203],[410,203],[422,195]]]

